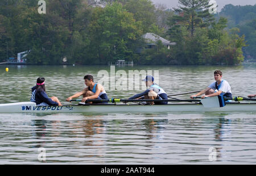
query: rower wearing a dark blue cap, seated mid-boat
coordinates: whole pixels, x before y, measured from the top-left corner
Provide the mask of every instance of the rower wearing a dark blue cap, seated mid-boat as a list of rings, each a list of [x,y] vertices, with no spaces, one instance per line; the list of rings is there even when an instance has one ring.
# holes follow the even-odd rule
[[[130,97],[129,99],[150,99],[150,100],[167,100],[168,99],[166,92],[164,92],[164,90],[161,87],[159,87],[159,85],[154,83],[153,76],[148,75],[142,81],[145,81],[146,86],[149,88],[142,93],[138,93],[137,95]],[[168,104],[168,102],[159,101],[159,102],[150,102],[150,104],[166,105]]]

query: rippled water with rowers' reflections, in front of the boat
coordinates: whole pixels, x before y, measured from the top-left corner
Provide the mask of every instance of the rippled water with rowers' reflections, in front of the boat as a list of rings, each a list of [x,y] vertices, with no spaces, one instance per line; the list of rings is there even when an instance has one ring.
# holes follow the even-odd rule
[[[0,164],[39,164],[40,147],[46,149],[46,163],[255,164],[256,119],[250,114],[181,115],[0,115]],[[209,148],[216,149],[214,161]]]

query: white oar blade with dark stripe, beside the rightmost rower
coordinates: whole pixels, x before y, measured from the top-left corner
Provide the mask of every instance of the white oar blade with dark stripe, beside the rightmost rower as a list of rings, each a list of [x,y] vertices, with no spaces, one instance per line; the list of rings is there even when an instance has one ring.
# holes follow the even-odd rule
[[[226,105],[223,96],[207,97],[201,100],[204,108],[221,108]]]

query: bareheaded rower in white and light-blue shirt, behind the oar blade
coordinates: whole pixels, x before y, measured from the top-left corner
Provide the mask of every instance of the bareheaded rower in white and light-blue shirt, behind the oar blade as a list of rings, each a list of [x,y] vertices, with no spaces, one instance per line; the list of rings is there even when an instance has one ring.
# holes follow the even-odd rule
[[[190,97],[197,97],[205,93],[205,95],[201,96],[201,98],[214,97],[219,95],[222,95],[227,98],[232,98],[230,85],[228,81],[222,79],[222,72],[220,70],[214,71],[214,79],[216,81],[210,84],[209,87],[207,87],[203,91],[200,91],[196,95],[192,95]]]

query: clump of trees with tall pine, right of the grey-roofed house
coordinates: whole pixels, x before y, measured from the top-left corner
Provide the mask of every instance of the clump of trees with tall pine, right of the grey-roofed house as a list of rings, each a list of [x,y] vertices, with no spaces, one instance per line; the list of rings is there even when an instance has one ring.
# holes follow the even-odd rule
[[[170,38],[177,42],[174,59],[188,65],[235,65],[243,61],[242,48],[245,36],[238,36],[237,29],[225,30],[228,20],[212,20],[208,14],[209,1],[179,0],[183,7],[179,14],[169,19]]]

